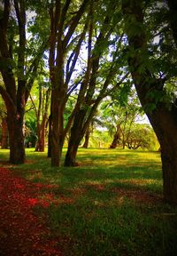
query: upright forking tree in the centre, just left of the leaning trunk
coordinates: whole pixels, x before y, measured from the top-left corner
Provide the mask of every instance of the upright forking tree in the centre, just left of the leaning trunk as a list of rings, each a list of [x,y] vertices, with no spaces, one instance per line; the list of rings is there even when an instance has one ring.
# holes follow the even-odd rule
[[[68,83],[71,80],[73,69],[81,49],[86,28],[82,33],[73,35],[81,17],[84,19],[89,0],[80,4],[66,0],[65,3],[56,0],[50,4],[50,145],[51,165],[61,164],[62,148],[68,126],[64,127],[65,104],[68,99]],[[78,39],[79,37],[79,39]],[[76,43],[75,43],[76,41]],[[69,50],[73,47],[73,52]],[[66,59],[67,53],[70,54]],[[65,64],[66,61],[66,64]],[[64,72],[64,68],[66,69]],[[70,122],[69,122],[70,123]]]

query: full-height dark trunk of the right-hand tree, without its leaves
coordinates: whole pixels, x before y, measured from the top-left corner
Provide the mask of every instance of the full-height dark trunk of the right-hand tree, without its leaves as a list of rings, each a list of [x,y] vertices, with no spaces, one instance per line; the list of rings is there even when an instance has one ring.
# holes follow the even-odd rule
[[[132,19],[132,22],[129,20],[130,27],[133,26],[134,22],[136,22],[136,25],[137,23],[143,24],[142,1],[128,0],[125,5],[124,2],[122,3],[125,22],[127,21],[128,15]],[[155,92],[155,95],[158,92],[163,93],[163,96],[167,99],[164,90],[165,81],[162,78],[156,79],[153,74],[150,74],[148,68],[146,70],[143,69],[143,73],[141,72],[142,65],[144,65],[143,68],[146,67],[146,60],[142,62],[141,55],[145,52],[147,53],[147,42],[144,29],[142,30],[142,26],[139,29],[139,33],[136,32],[133,35],[131,30],[127,28],[130,48],[136,52],[134,56],[131,55],[129,57],[128,63],[131,68],[138,97],[160,143],[164,199],[170,204],[177,204],[177,108],[175,103],[171,103],[171,108],[169,108],[163,100],[161,102],[158,101],[155,105],[155,96],[154,98],[150,97],[149,92]],[[150,110],[147,108],[150,105],[155,105],[155,109]]]

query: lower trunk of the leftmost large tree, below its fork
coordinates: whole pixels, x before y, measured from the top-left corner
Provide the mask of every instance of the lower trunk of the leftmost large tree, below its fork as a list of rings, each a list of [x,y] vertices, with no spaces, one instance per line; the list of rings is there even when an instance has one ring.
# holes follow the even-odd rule
[[[7,125],[9,131],[10,162],[23,164],[25,162],[25,145],[23,133],[24,112],[20,114],[7,112]]]

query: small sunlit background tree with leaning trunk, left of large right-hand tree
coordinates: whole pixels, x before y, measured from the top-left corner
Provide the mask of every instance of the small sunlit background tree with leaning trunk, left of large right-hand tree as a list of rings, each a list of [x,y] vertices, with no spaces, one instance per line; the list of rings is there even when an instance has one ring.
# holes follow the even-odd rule
[[[142,119],[142,108],[129,81],[123,88],[115,90],[111,97],[101,104],[103,125],[113,137],[110,148],[127,147],[127,140],[131,137],[135,123]]]

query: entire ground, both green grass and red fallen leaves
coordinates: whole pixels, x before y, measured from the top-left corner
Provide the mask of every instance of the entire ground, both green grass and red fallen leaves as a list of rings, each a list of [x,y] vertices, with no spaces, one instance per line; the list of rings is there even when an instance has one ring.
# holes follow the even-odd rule
[[[19,165],[0,150],[0,256],[176,256],[158,152],[80,148],[58,168],[34,150]]]

